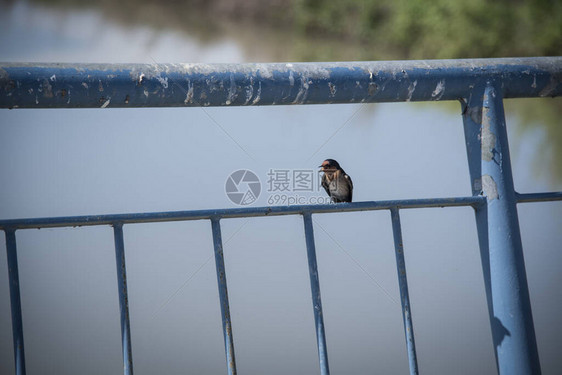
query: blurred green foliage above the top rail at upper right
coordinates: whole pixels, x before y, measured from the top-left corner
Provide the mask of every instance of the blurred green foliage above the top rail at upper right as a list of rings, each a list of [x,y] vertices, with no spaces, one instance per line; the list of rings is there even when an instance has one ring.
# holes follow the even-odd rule
[[[554,0],[293,0],[300,32],[361,40],[391,58],[556,55],[562,2]]]

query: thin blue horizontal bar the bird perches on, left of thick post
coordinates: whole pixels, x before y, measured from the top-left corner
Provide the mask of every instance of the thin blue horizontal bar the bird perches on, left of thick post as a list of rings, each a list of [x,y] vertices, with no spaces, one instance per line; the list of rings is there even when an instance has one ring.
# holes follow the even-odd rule
[[[269,207],[241,207],[192,211],[147,212],[130,214],[110,214],[91,216],[45,217],[31,219],[0,220],[0,229],[32,229],[54,227],[77,227],[90,225],[112,225],[114,223],[134,224],[165,221],[185,221],[203,219],[229,219],[239,217],[298,215],[303,213],[330,213],[373,211],[396,208],[425,208],[425,207],[476,207],[485,202],[483,196],[454,197],[454,198],[425,198],[388,201],[367,201],[355,203],[269,206]]]

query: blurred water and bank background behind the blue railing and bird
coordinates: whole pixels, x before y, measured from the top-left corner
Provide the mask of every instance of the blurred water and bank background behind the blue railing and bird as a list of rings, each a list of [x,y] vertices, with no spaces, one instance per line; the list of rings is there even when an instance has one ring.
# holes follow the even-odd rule
[[[560,54],[560,1],[0,2],[5,62]],[[562,190],[562,100],[506,100],[505,109],[517,191]],[[315,169],[325,158],[352,176],[355,201],[470,195],[456,102],[0,110],[0,219],[236,207],[225,182],[238,169],[260,178],[253,205],[266,206],[269,170]],[[518,211],[541,365],[558,374],[562,203]],[[495,374],[472,209],[401,216],[420,372]],[[407,373],[390,214],[313,218],[332,373]],[[302,219],[222,228],[239,373],[316,373]],[[135,372],[223,373],[210,224],[124,233]],[[112,229],[17,239],[28,373],[120,373]],[[0,241],[0,373],[13,372]]]

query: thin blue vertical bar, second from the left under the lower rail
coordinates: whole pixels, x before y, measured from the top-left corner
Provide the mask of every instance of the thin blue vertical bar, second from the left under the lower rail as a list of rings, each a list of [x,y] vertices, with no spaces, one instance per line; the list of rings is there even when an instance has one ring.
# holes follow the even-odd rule
[[[133,374],[133,354],[131,349],[131,327],[129,323],[129,297],[127,293],[127,272],[125,269],[125,245],[123,224],[113,224],[115,239],[115,260],[117,264],[117,287],[119,290],[119,310],[121,312],[121,345],[123,349],[123,373]]]

